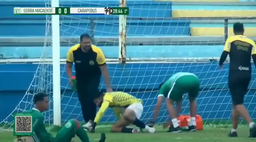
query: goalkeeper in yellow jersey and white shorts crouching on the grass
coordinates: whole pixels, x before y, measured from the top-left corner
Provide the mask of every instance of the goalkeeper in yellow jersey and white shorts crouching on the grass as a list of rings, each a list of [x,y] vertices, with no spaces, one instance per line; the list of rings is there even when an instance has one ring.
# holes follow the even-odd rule
[[[145,129],[150,133],[155,132],[155,128],[150,128],[139,120],[143,112],[141,99],[137,99],[125,92],[98,92],[94,102],[96,105],[100,106],[100,109],[91,125],[91,132],[95,131],[96,124],[99,123],[109,107],[113,108],[117,116],[117,123],[112,126],[111,132],[137,133],[138,130],[136,129],[126,128],[129,124],[134,124],[140,129]]]

